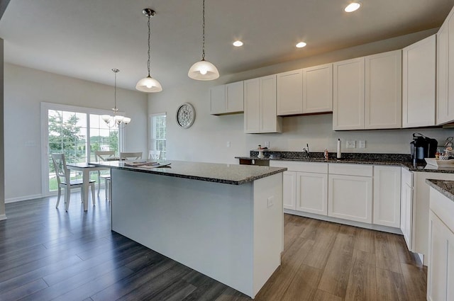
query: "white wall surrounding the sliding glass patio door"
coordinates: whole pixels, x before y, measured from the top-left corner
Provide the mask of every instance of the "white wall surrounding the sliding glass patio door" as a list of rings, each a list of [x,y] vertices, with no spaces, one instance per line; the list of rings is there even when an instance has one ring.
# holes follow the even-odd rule
[[[106,76],[114,76],[110,70]],[[117,89],[117,107],[131,117],[126,151],[148,151],[147,94]],[[5,198],[38,198],[41,191],[40,103],[110,110],[114,88],[37,69],[4,65]],[[26,183],[26,185],[24,184]]]

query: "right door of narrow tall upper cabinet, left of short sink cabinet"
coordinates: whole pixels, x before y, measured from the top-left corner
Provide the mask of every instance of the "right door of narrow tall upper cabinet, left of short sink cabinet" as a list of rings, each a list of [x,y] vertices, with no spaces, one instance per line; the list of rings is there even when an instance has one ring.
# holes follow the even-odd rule
[[[276,74],[260,77],[260,132],[282,131],[276,97]]]

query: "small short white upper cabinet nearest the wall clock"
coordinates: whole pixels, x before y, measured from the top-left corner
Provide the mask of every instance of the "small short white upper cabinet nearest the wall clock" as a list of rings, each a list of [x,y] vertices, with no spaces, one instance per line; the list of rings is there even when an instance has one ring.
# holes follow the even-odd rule
[[[243,93],[243,81],[212,87],[210,89],[211,115],[242,113]]]

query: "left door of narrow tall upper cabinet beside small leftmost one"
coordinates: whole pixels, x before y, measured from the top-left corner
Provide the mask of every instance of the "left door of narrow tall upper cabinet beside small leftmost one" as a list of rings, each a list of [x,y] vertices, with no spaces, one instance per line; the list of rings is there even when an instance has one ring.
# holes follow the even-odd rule
[[[244,132],[260,131],[260,83],[258,79],[244,81]]]

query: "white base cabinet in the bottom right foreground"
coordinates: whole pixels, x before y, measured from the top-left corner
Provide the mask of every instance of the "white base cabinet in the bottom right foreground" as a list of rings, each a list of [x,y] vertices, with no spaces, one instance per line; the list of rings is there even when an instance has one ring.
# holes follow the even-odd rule
[[[454,300],[454,203],[430,188],[427,300]]]

